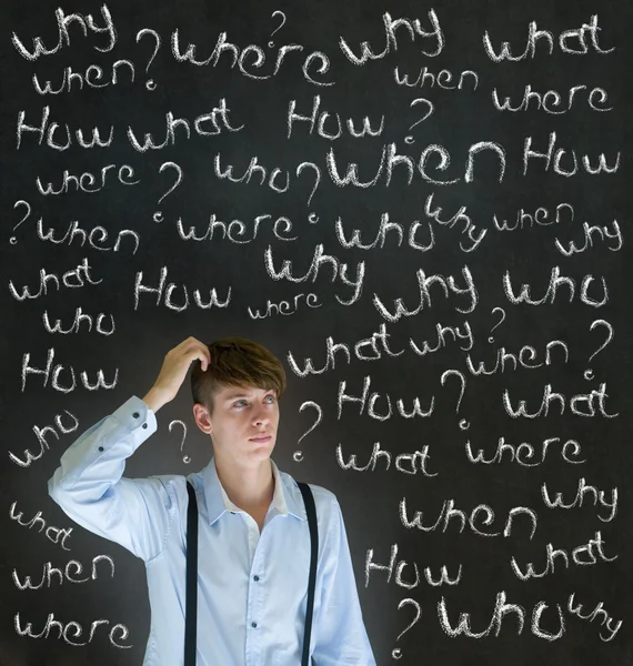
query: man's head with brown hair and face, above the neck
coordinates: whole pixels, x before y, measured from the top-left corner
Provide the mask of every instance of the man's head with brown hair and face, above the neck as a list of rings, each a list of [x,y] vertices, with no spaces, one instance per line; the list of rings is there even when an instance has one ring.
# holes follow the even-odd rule
[[[195,362],[191,373],[193,416],[211,435],[215,455],[242,464],[269,457],[277,440],[279,404],[285,372],[263,345],[244,337],[223,337],[209,345],[205,372]],[[257,441],[258,434],[270,435]]]

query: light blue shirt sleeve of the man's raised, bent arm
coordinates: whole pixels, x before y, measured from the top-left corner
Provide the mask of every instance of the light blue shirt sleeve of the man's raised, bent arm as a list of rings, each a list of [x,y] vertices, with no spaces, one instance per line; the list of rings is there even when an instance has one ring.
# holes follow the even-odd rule
[[[130,397],[61,456],[49,495],[76,523],[148,562],[163,548],[175,496],[158,477],[125,478],[125,458],[157,430],[148,404]]]

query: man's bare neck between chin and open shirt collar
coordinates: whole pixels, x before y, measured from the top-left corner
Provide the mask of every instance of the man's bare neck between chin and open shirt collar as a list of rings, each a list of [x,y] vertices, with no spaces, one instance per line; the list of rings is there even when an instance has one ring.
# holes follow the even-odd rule
[[[218,478],[229,500],[242,511],[269,507],[274,494],[274,476],[270,458],[255,467],[238,467],[215,456]]]

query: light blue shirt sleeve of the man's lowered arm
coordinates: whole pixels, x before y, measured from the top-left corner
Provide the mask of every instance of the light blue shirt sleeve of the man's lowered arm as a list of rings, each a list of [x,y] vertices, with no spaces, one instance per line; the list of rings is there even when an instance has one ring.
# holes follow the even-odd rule
[[[363,623],[341,507],[334,501],[328,535],[316,640],[312,658],[316,666],[375,666]]]

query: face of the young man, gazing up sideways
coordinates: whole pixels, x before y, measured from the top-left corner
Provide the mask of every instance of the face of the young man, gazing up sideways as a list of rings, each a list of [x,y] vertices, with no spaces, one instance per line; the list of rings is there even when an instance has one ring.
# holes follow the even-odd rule
[[[225,386],[213,405],[210,422],[217,454],[245,465],[270,457],[279,425],[274,390]]]

